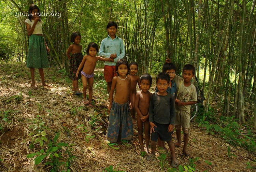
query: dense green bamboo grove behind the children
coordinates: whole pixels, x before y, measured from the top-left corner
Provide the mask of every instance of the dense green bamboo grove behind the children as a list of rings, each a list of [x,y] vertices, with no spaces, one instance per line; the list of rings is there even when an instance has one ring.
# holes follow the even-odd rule
[[[176,64],[177,74],[186,63],[193,64],[207,97],[205,112],[217,99],[222,115],[234,115],[240,123],[254,120],[256,126],[255,0],[3,0],[2,59],[11,55],[26,61],[26,17],[14,15],[27,12],[31,3],[61,13],[42,17],[52,67],[68,71],[65,52],[73,31],[81,32],[84,48],[89,42],[100,44],[106,24],[114,20],[125,58],[139,63],[140,74],[156,74],[166,58]]]

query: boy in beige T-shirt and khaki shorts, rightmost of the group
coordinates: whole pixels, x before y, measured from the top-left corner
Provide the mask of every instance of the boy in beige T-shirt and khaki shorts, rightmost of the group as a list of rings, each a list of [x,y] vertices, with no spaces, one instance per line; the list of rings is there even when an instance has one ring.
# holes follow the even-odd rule
[[[191,79],[195,76],[195,67],[193,65],[185,65],[182,77],[175,75],[174,81],[177,84],[177,99],[175,100],[176,118],[175,129],[177,142],[176,147],[181,146],[181,127],[184,133],[183,155],[190,156],[187,152],[187,144],[189,137],[190,123],[190,105],[197,103],[196,87],[191,83]]]

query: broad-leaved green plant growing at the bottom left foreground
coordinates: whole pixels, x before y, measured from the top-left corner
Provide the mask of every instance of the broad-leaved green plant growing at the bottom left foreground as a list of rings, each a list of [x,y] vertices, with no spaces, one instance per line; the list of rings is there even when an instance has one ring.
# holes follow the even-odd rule
[[[27,158],[33,158],[35,156],[34,162],[35,165],[40,164],[41,162],[44,161],[45,159],[45,166],[49,166],[51,172],[59,171],[59,167],[62,164],[65,164],[65,167],[67,167],[67,171],[69,170],[70,163],[76,158],[71,154],[69,150],[66,152],[63,152],[62,147],[69,147],[69,144],[67,143],[57,143],[57,140],[59,138],[60,133],[56,133],[55,137],[53,140],[50,140],[49,143],[47,144],[47,148],[45,149],[40,149],[39,152],[36,153],[31,153],[27,155]],[[65,161],[63,161],[62,154],[63,153],[68,153],[69,157]],[[46,159],[48,158],[48,159]],[[60,160],[61,159],[61,160]]]

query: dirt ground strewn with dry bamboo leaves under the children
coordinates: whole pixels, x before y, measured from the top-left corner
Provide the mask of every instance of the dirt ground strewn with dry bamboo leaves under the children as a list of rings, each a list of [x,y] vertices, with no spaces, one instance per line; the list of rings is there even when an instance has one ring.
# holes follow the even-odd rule
[[[46,143],[41,147],[35,144],[33,149],[29,148],[33,139],[29,133],[39,127],[46,131],[47,143],[59,132],[57,142],[69,144],[68,148],[63,147],[62,158],[59,159],[66,162],[70,155],[75,156],[69,167],[71,171],[105,171],[110,166],[115,171],[171,171],[169,154],[165,160],[160,160],[157,153],[152,162],[139,155],[136,134],[129,147],[120,144],[119,150],[113,150],[106,145],[108,95],[102,92],[100,86],[94,85],[95,107],[90,108],[83,105],[82,95],[76,96],[71,92],[72,82],[61,71],[51,68],[45,69],[44,73],[47,84],[52,87],[41,86],[41,78],[38,70],[35,70],[39,88],[32,90],[30,72],[25,64],[0,62],[0,127],[3,127],[0,130],[0,171],[50,170],[50,166],[44,165],[50,157],[38,165],[34,164],[34,158],[27,158],[28,154],[39,152],[41,148],[47,149]],[[102,80],[100,77],[98,79]],[[79,127],[81,125],[86,129]],[[136,133],[137,126],[133,128]],[[95,137],[88,137],[92,135]],[[175,142],[175,134],[173,139]],[[228,146],[232,154],[230,157]],[[255,154],[228,145],[221,138],[205,133],[194,123],[191,123],[188,151],[196,171],[255,170],[248,168],[248,164],[255,168]],[[175,148],[175,153],[179,164],[191,164],[188,157],[182,156],[182,148]],[[65,163],[59,168],[66,170]]]

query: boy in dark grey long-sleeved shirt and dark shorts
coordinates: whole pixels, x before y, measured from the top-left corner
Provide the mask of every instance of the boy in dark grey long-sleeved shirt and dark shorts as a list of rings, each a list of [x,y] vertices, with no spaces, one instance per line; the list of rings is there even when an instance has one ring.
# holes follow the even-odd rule
[[[178,162],[175,157],[175,147],[172,141],[173,125],[175,124],[174,97],[166,92],[170,82],[167,73],[159,73],[156,77],[158,92],[151,96],[149,109],[149,122],[151,133],[151,154],[147,160],[151,161],[155,157],[158,137],[166,141],[171,150],[171,166],[176,168]]]

